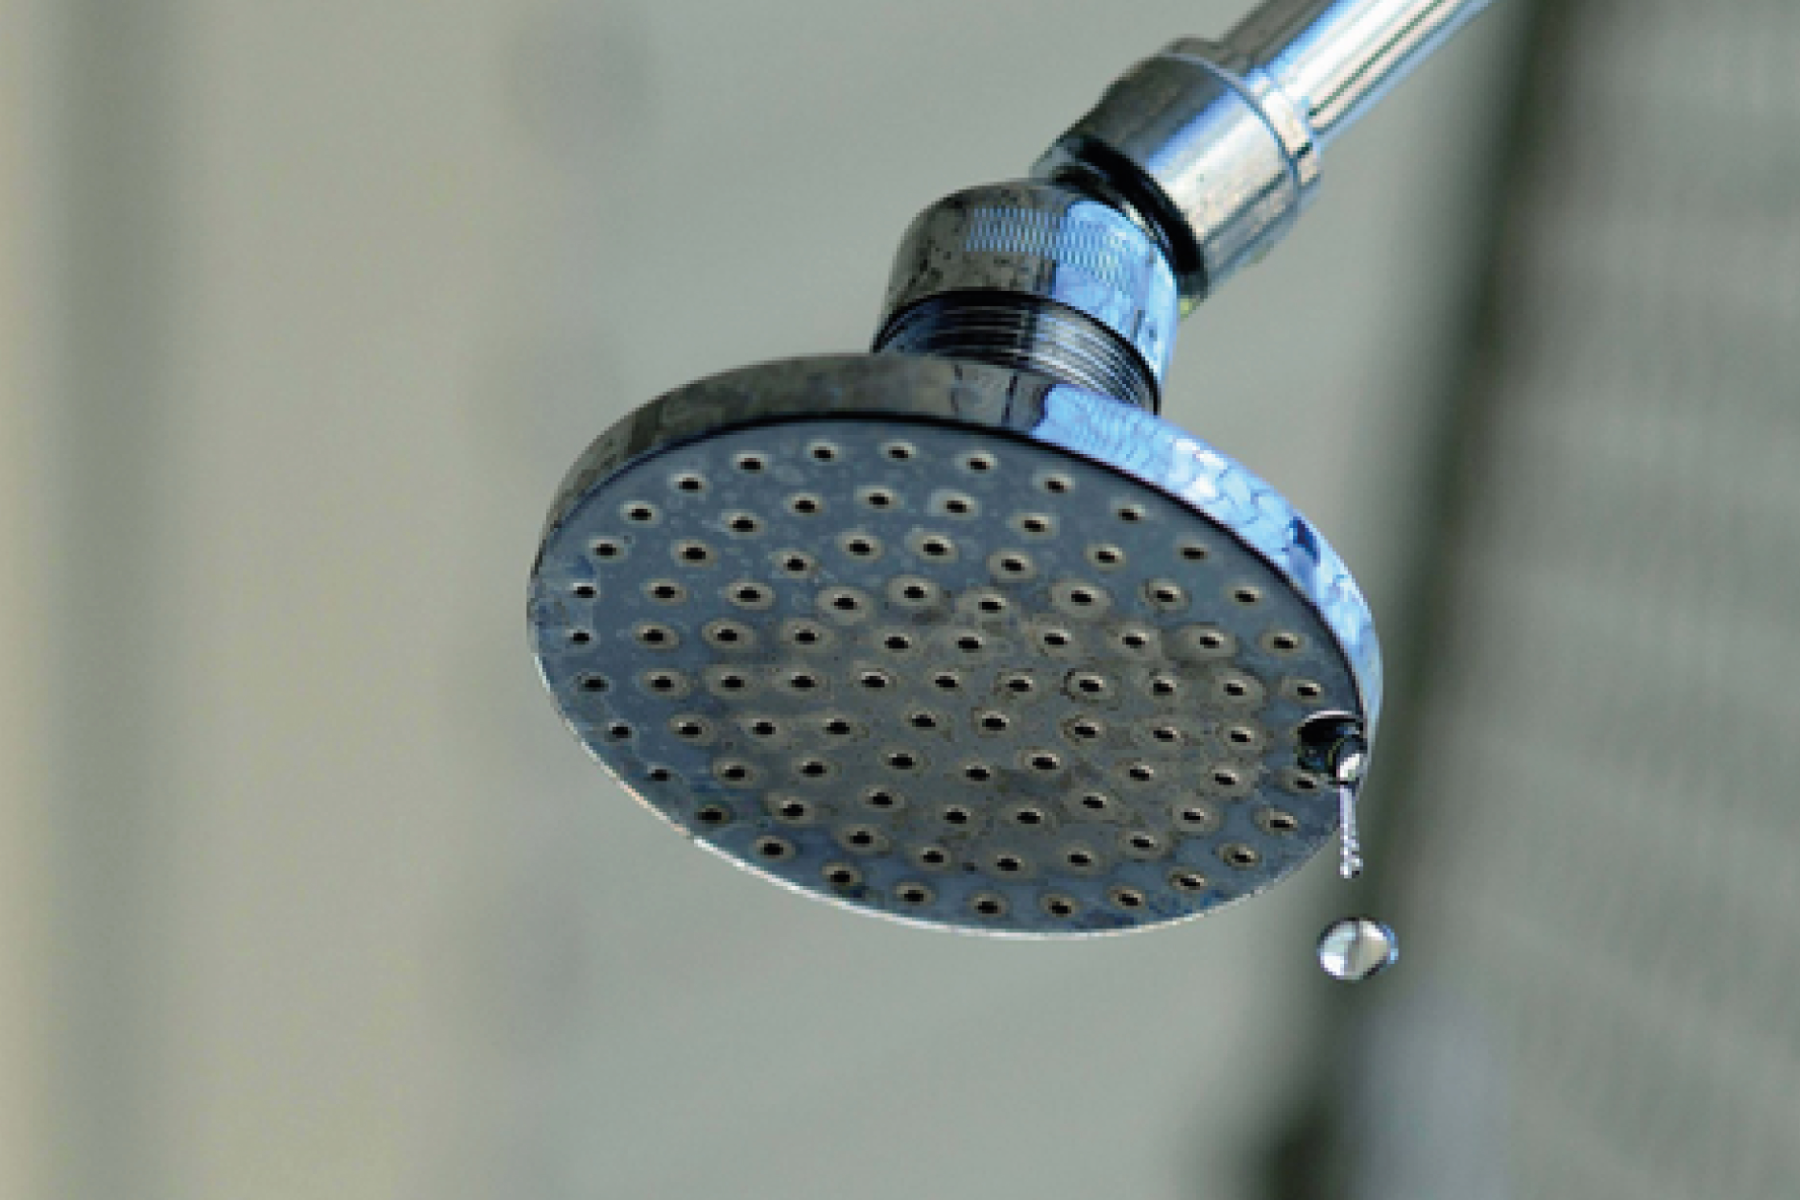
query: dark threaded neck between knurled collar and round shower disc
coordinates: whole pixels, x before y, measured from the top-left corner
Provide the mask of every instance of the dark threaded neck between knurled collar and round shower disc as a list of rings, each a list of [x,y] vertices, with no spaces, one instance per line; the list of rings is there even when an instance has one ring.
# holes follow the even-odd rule
[[[1125,342],[1091,317],[1030,295],[931,297],[887,322],[875,349],[1035,371],[1156,412],[1156,380]]]

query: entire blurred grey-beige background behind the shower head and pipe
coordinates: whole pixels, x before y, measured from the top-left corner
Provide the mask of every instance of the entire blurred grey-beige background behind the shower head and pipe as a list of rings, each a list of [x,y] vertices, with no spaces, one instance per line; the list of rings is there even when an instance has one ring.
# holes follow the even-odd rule
[[[1240,11],[0,0],[0,1196],[1800,1193],[1791,0],[1499,0],[1183,331],[1382,622],[1368,882],[871,921],[540,694],[590,437]]]

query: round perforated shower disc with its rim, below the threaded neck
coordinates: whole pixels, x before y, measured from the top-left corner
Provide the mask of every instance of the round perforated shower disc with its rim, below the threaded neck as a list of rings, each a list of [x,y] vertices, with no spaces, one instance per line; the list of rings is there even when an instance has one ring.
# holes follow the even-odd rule
[[[1332,837],[1296,729],[1375,702],[1330,551],[1301,524],[1296,587],[1294,529],[1255,545],[1298,520],[1273,491],[1166,470],[1213,453],[992,367],[702,381],[571,475],[533,574],[538,660],[628,790],[776,882],[985,934],[1193,918]],[[1175,491],[1145,479],[1157,455]],[[1197,507],[1206,479],[1240,527]]]

